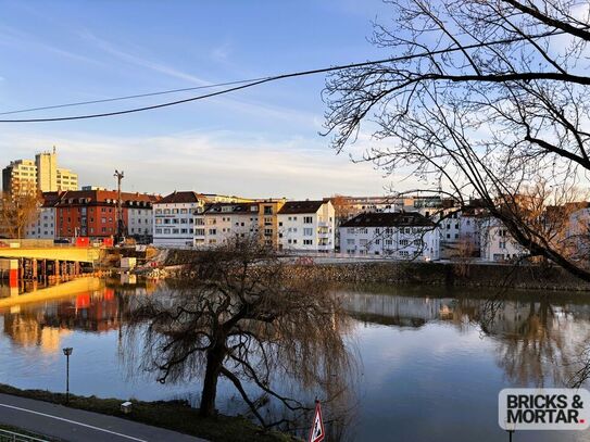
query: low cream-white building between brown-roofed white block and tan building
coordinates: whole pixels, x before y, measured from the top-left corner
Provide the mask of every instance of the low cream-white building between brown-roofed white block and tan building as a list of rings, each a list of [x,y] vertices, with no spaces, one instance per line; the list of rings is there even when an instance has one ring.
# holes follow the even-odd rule
[[[223,244],[233,237],[259,235],[259,203],[213,203],[194,215],[194,245]]]

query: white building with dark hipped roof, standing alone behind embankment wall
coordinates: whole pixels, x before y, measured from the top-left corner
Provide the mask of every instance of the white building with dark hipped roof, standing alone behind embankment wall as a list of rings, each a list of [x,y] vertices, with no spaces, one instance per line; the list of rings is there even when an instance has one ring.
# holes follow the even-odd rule
[[[438,227],[417,212],[365,213],[340,226],[340,253],[434,261],[440,256]]]

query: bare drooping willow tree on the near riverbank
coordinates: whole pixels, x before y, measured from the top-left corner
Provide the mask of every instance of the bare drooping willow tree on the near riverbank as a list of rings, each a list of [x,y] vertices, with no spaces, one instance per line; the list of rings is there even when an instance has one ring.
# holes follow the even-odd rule
[[[347,321],[324,282],[293,277],[293,268],[256,238],[199,252],[188,271],[188,282],[140,299],[130,324],[147,323],[142,365],[155,368],[161,382],[202,376],[201,415],[215,413],[219,377],[265,427],[284,422],[263,417],[259,407],[265,400],[294,414],[307,409],[281,390],[287,379],[329,392],[328,399],[344,390]],[[262,399],[252,397],[247,384]]]

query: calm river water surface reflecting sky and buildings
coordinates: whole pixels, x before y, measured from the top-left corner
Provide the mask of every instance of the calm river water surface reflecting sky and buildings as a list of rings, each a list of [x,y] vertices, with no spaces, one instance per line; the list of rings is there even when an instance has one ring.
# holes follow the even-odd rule
[[[197,381],[161,386],[130,368],[123,312],[130,296],[156,290],[154,282],[78,280],[23,302],[27,295],[0,287],[0,382],[63,390],[61,349],[73,346],[74,393],[198,401]],[[346,440],[507,441],[497,422],[498,392],[563,386],[590,342],[590,298],[580,294],[512,292],[490,303],[493,291],[337,290],[353,318],[347,340],[359,366]],[[493,314],[484,315],[488,310]],[[244,412],[223,381],[218,407]],[[588,434],[523,431],[514,441],[590,441]]]

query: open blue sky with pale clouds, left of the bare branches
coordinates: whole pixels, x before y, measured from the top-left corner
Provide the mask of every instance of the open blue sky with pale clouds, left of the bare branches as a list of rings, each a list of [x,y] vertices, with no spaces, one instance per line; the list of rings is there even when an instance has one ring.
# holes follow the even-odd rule
[[[256,78],[388,56],[367,38],[380,0],[0,0],[0,112]],[[55,146],[81,186],[166,194],[384,194],[394,180],[323,137],[323,74],[78,122],[0,125],[0,165]],[[116,111],[197,92],[5,117]],[[409,186],[407,184],[401,186]],[[400,188],[400,190],[403,190]]]

